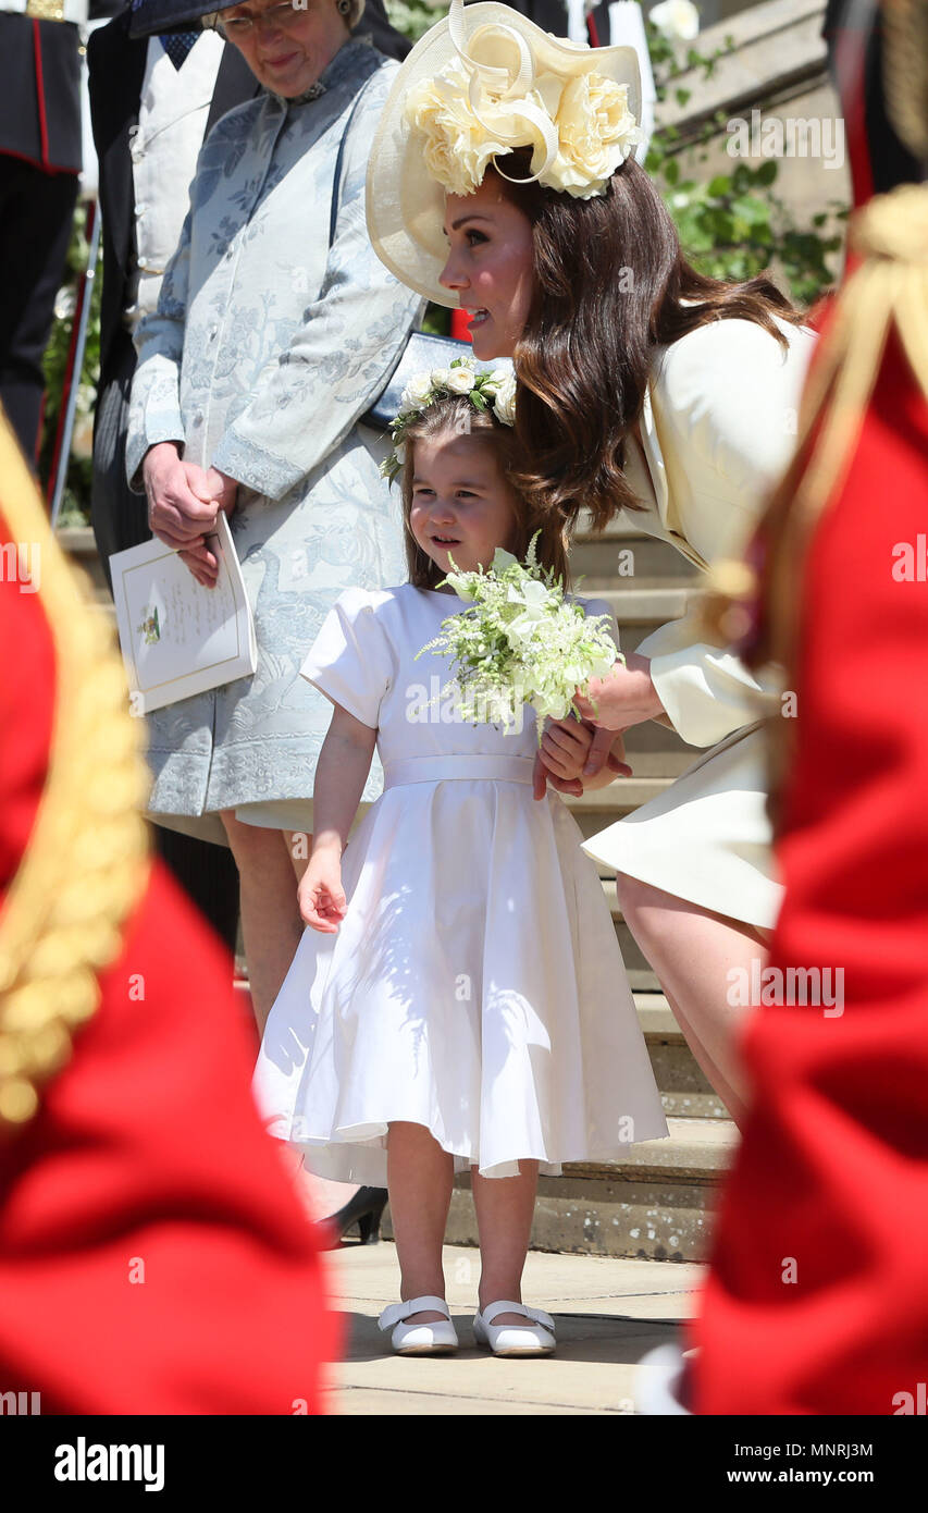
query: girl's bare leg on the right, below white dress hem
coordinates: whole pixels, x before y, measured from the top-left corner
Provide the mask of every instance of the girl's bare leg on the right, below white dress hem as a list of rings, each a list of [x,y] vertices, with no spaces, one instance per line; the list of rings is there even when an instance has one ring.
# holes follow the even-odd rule
[[[535,1213],[538,1162],[520,1160],[518,1177],[481,1177],[478,1168],[472,1167],[470,1183],[481,1241],[481,1310],[503,1298],[521,1303],[521,1272]],[[521,1313],[500,1313],[493,1319],[494,1328],[499,1324],[531,1328]]]

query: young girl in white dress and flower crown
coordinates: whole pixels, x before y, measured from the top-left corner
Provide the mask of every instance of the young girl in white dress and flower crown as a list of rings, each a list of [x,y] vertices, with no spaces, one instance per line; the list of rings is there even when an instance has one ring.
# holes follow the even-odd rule
[[[520,1301],[538,1173],[668,1133],[595,868],[564,802],[532,797],[534,711],[518,732],[464,723],[429,707],[449,660],[414,660],[464,608],[437,589],[452,557],[523,557],[541,525],[538,560],[567,578],[561,522],[531,520],[514,461],[493,409],[428,395],[405,431],[410,583],[342,593],[301,669],[334,704],[299,885],[311,927],[255,1095],[310,1171],[388,1188],[402,1301],[379,1324],[401,1353],[458,1345],[441,1269],[455,1171],[472,1170],[481,1238],[478,1344],[547,1354],[553,1321]],[[588,740],[562,722],[546,743],[574,776]],[[375,744],[384,793],[346,846]]]

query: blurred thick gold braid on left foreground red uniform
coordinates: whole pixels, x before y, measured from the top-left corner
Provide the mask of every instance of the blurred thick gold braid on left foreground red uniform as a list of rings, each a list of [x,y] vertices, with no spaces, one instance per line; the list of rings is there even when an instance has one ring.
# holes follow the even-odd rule
[[[122,949],[151,867],[141,816],[151,779],[113,631],[54,540],[2,413],[0,516],[8,540],[39,549],[36,599],[56,660],[45,788],[0,909],[0,1135],[9,1135],[38,1111],[42,1083],[100,1005],[97,974]]]

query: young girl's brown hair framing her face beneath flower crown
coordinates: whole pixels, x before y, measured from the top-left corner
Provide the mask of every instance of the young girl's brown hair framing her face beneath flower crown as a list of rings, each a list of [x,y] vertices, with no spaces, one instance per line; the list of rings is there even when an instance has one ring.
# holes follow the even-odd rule
[[[435,399],[411,421],[404,431],[407,455],[401,472],[404,537],[407,545],[407,569],[410,583],[416,589],[435,589],[444,578],[444,572],[422,551],[410,527],[410,511],[413,508],[413,472],[417,440],[432,440],[438,436],[475,436],[484,446],[493,446],[506,486],[512,492],[515,511],[515,545],[514,555],[523,558],[529,549],[529,542],[535,531],[541,531],[535,543],[535,555],[543,567],[550,567],[564,579],[564,587],[570,589],[570,569],[567,566],[567,540],[564,519],[556,510],[537,511],[518,483],[515,481],[524,469],[524,457],[518,439],[511,425],[503,425],[490,410],[478,410],[467,395],[455,395],[446,399]]]

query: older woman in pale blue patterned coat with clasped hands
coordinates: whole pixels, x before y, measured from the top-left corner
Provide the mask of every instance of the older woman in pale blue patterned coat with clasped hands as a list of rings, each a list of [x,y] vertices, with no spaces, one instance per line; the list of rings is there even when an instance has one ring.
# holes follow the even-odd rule
[[[263,88],[207,138],[157,313],[136,337],[128,477],[154,534],[204,584],[216,575],[204,537],[230,511],[258,645],[254,678],[150,716],[150,812],[231,846],[260,1023],[302,932],[295,875],[331,713],[298,669],[342,589],[404,575],[384,446],[361,418],[420,300],[364,227],[367,150],[396,64],[349,36],[361,11],[254,0],[221,12]],[[364,797],[379,787],[378,769]]]

